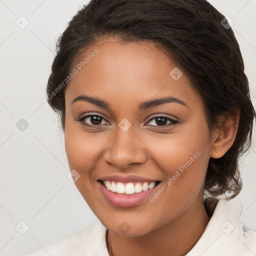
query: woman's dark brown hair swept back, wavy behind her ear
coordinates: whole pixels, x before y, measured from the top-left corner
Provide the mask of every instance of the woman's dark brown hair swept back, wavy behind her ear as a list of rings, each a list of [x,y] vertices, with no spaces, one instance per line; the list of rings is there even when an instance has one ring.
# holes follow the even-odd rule
[[[209,159],[205,180],[205,194],[235,197],[242,186],[238,160],[251,145],[255,110],[240,48],[225,17],[206,0],[91,0],[58,38],[48,79],[47,100],[63,129],[68,85],[63,80],[80,53],[107,36],[164,49],[200,94],[211,129],[218,127],[219,116],[240,110],[235,140],[222,157]]]

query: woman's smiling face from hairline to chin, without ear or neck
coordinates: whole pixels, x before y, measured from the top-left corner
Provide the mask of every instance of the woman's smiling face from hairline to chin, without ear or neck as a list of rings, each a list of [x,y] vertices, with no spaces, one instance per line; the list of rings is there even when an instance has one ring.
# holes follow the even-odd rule
[[[114,38],[88,48],[74,68],[65,150],[101,222],[117,235],[142,235],[202,201],[212,142],[186,75],[154,44]]]

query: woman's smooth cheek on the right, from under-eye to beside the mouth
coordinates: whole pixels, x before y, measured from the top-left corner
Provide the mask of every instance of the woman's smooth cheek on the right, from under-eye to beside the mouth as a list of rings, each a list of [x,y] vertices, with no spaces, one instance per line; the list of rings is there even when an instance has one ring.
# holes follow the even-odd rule
[[[158,162],[157,165],[164,172],[166,182],[169,180],[167,184],[165,182],[168,187],[165,199],[179,201],[198,195],[209,160],[210,137],[207,123],[194,121],[173,129],[172,134],[155,134],[144,139],[153,152],[151,155],[154,161]]]

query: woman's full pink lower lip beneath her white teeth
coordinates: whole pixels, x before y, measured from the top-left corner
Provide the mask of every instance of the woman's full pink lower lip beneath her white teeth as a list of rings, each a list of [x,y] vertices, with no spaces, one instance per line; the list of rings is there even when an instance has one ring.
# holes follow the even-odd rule
[[[154,192],[157,185],[152,187],[151,189],[148,189],[146,191],[141,191],[139,193],[134,193],[134,194],[118,194],[115,192],[112,192],[111,190],[108,190],[105,185],[101,182],[98,181],[100,189],[105,196],[105,198],[108,200],[109,203],[111,203],[113,206],[116,207],[134,207],[137,206],[138,204],[142,203],[146,199],[149,198],[149,196]]]

